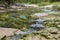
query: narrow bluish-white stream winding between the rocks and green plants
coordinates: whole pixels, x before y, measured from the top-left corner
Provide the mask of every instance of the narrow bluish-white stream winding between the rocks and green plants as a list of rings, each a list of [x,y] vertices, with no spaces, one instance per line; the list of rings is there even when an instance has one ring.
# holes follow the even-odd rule
[[[55,14],[56,12],[55,11],[52,11],[52,10],[49,10],[49,9],[46,9],[46,8],[41,8],[39,7],[41,10],[43,10],[44,12],[42,13],[35,13],[33,14],[34,16],[38,16],[38,17],[41,17],[41,16],[47,16],[49,14]],[[33,16],[32,15],[32,16]],[[24,18],[24,16],[21,16],[22,18]],[[27,31],[19,31],[15,36],[12,36],[11,37],[11,40],[19,40],[20,37],[22,37],[23,35],[27,35],[27,34],[31,34],[33,32],[35,32],[37,29],[43,29],[45,28],[45,26],[43,25],[45,20],[44,19],[41,19],[41,18],[38,18],[36,20],[32,20],[33,22],[35,22],[34,24],[31,24],[29,25],[29,28]]]

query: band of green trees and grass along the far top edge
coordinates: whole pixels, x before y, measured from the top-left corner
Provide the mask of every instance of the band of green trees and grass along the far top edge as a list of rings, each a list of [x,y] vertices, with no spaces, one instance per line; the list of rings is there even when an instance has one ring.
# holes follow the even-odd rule
[[[3,3],[6,6],[14,4],[15,2],[20,3],[31,3],[31,4],[39,4],[39,5],[48,5],[54,2],[59,2],[60,0],[0,0],[0,4]]]

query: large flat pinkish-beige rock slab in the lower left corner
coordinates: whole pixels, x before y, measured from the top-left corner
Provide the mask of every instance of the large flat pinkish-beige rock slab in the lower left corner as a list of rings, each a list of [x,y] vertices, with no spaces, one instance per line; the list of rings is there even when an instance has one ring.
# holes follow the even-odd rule
[[[13,36],[15,32],[17,32],[18,29],[13,29],[13,28],[1,28],[0,27],[0,39],[3,38],[4,36],[10,37]]]

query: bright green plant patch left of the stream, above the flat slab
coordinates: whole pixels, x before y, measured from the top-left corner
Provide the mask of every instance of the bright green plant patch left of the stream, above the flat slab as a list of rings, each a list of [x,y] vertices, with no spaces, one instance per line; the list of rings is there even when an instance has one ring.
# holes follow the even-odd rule
[[[29,17],[26,16],[26,18],[23,18],[24,16],[20,18],[20,16],[17,16],[20,14],[15,14],[14,16],[11,16],[9,14],[1,14],[0,15],[0,27],[8,27],[8,28],[23,28],[27,27],[29,24]]]

